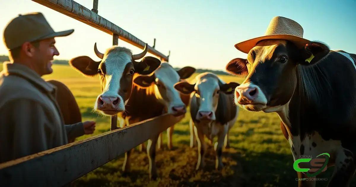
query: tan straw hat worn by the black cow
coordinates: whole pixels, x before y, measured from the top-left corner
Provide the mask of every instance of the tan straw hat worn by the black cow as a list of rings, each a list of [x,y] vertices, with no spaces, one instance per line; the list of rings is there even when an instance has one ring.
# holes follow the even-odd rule
[[[276,16],[272,18],[264,36],[236,43],[235,47],[241,52],[248,53],[259,41],[266,39],[288,40],[300,48],[310,42],[303,38],[303,28],[297,22],[286,17]]]

